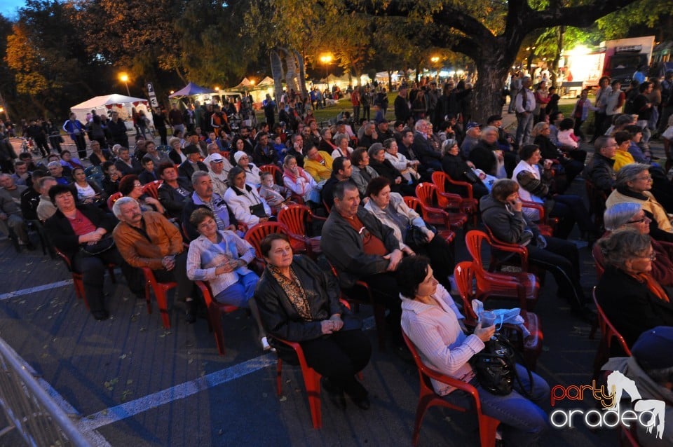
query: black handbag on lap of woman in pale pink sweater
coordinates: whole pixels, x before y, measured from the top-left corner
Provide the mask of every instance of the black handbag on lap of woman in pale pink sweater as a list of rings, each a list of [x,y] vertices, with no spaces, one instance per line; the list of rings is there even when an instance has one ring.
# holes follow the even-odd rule
[[[530,390],[525,390],[517,373],[515,357],[522,357],[512,344],[500,333],[484,343],[484,349],[470,359],[477,381],[484,390],[498,396],[506,396],[512,392],[515,380],[519,390],[525,397],[530,397],[533,389],[533,374],[526,366],[530,380]],[[523,360],[523,359],[522,359]],[[522,362],[525,364],[525,362]]]

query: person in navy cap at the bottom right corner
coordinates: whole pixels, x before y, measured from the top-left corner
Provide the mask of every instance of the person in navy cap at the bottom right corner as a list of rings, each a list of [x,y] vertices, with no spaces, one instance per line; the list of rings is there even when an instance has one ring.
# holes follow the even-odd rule
[[[631,348],[631,357],[613,357],[604,364],[604,371],[618,371],[624,377],[617,380],[608,377],[609,384],[621,385],[618,391],[626,390],[632,403],[637,405],[635,412],[651,412],[653,427],[646,429],[638,421],[633,421],[637,430],[638,444],[641,447],[673,446],[673,327],[657,326],[641,333]],[[614,373],[610,373],[611,375]],[[626,382],[626,383],[625,383]],[[635,385],[632,395],[632,387]],[[626,395],[622,392],[621,397]],[[635,402],[634,402],[635,401]],[[618,406],[627,405],[623,400]],[[628,407],[629,409],[631,406]],[[620,412],[623,410],[620,408]],[[641,413],[641,419],[648,420],[648,415]],[[668,423],[665,423],[667,421]]]

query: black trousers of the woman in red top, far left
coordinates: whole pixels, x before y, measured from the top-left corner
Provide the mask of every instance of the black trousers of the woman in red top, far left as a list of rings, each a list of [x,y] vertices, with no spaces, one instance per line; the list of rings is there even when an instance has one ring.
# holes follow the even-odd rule
[[[126,278],[126,283],[131,291],[136,294],[142,291],[142,282],[139,282],[139,270],[129,266],[123,260],[116,247],[112,247],[107,252],[102,252],[95,256],[78,252],[72,259],[72,266],[76,272],[81,273],[83,276],[84,294],[91,312],[105,310],[103,282],[105,271],[110,263],[121,267],[121,272]]]

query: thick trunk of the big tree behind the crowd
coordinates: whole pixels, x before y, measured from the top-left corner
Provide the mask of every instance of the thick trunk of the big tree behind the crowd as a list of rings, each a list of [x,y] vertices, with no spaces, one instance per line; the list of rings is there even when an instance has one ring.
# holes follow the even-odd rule
[[[477,62],[477,83],[472,97],[472,121],[486,123],[491,115],[501,114],[503,109],[503,82],[512,61],[496,51],[484,51]]]

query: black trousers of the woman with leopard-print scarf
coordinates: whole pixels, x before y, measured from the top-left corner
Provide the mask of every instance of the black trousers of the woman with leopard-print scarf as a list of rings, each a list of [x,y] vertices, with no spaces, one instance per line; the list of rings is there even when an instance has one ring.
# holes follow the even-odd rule
[[[369,363],[372,345],[360,329],[337,331],[299,343],[306,363],[355,399],[367,396],[355,374]]]

